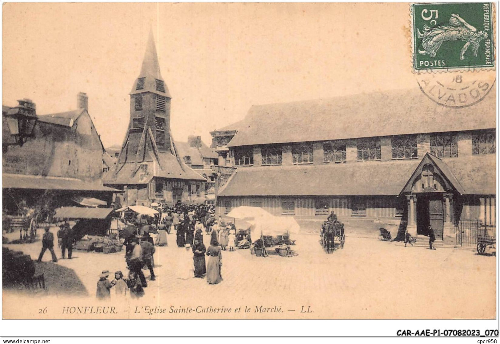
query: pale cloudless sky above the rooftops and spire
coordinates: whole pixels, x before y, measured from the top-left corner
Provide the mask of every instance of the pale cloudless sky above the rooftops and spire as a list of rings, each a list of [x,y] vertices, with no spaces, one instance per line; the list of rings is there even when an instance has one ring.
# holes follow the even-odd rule
[[[408,3],[4,3],[2,104],[88,112],[121,145],[153,30],[176,141],[242,119],[253,104],[417,87]]]

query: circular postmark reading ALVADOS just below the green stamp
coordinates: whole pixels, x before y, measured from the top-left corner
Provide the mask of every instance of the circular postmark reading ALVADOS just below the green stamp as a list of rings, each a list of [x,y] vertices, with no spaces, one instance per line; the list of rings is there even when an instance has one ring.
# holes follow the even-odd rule
[[[496,72],[422,73],[416,80],[422,92],[438,104],[465,107],[478,103],[491,90]]]

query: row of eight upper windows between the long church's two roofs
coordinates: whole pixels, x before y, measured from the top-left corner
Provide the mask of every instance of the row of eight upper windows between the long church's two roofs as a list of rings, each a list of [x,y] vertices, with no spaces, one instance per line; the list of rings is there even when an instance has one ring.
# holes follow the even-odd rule
[[[472,154],[495,154],[494,131],[472,134]],[[430,154],[438,158],[458,156],[456,134],[440,133],[430,135]],[[360,139],[356,142],[357,161],[380,160],[380,138]],[[314,161],[312,143],[292,146],[292,164],[310,164]],[[416,135],[394,136],[391,138],[392,159],[414,159],[418,157]],[[346,145],[342,142],[323,143],[323,162],[343,163],[346,161]],[[262,165],[281,165],[282,146],[266,145],[261,148]],[[253,147],[234,150],[235,165],[253,165]]]

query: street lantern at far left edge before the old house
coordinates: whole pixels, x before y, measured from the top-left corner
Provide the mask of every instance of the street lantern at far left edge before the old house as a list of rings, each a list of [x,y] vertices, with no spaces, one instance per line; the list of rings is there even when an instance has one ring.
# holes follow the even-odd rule
[[[10,135],[14,137],[15,144],[22,146],[27,138],[31,136],[36,123],[35,104],[29,99],[17,100],[19,105],[2,111],[7,121]],[[5,138],[3,138],[5,141]],[[10,143],[12,144],[12,143]]]

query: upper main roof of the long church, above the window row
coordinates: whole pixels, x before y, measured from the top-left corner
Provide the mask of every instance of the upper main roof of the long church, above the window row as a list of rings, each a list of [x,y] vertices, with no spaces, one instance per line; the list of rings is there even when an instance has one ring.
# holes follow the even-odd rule
[[[252,106],[229,147],[495,128],[495,88],[475,105],[439,105],[420,89]],[[223,129],[223,128],[222,128]],[[219,129],[219,130],[222,130]]]

